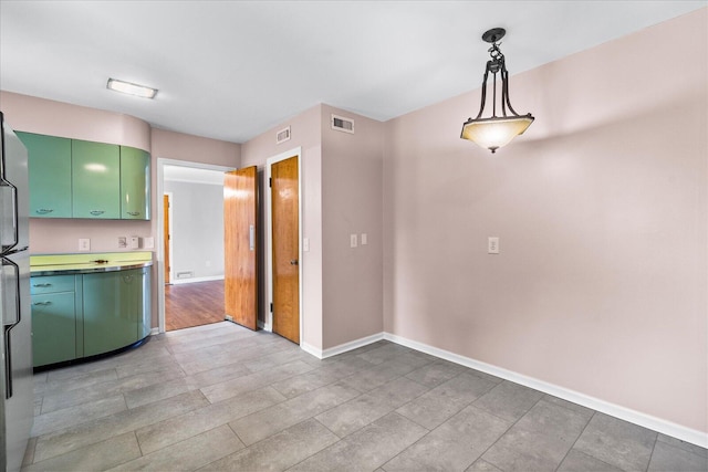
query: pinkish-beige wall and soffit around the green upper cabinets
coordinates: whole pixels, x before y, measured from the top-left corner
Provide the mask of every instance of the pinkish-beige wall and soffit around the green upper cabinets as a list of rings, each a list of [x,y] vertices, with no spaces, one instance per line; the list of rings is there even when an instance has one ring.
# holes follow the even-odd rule
[[[133,116],[9,92],[0,92],[0,109],[8,124],[17,130],[133,146],[152,151],[153,156],[150,221],[32,218],[30,245],[33,254],[77,252],[79,238],[91,239],[92,252],[122,251],[117,247],[118,237],[155,238],[158,224],[155,169],[158,157],[229,167],[238,167],[240,161],[239,144],[154,129]],[[155,294],[156,270],[153,271]],[[157,297],[154,296],[154,327],[157,326]]]

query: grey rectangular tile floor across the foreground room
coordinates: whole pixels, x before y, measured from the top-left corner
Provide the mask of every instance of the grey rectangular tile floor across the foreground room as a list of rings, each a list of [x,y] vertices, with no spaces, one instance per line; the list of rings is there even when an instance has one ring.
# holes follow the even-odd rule
[[[706,471],[676,439],[393,343],[230,323],[35,376],[24,471]]]

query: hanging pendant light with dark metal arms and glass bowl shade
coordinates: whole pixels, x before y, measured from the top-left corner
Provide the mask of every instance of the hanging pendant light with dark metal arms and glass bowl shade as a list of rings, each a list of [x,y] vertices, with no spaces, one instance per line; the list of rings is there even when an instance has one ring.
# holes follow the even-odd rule
[[[491,43],[489,49],[490,61],[487,61],[487,69],[485,70],[485,78],[482,80],[482,98],[479,107],[479,114],[472,119],[471,117],[462,124],[462,139],[469,139],[477,143],[481,147],[486,147],[491,150],[492,154],[502,146],[508,145],[511,140],[523,134],[531,123],[533,123],[533,116],[531,114],[519,115],[509,102],[509,73],[507,72],[507,65],[504,64],[504,55],[499,50],[498,41],[501,40],[507,30],[503,28],[493,28],[485,34],[482,40]],[[492,108],[491,116],[482,118],[485,112],[485,105],[487,101],[487,78],[489,73],[493,75],[493,95],[492,95]],[[497,116],[497,74],[501,74],[501,115]],[[509,108],[510,115],[507,115],[507,108]]]

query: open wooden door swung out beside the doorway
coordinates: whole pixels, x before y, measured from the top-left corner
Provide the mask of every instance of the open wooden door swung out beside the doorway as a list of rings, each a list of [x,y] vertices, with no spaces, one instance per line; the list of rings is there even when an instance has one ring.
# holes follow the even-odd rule
[[[258,171],[226,172],[223,179],[223,294],[226,314],[258,327]]]

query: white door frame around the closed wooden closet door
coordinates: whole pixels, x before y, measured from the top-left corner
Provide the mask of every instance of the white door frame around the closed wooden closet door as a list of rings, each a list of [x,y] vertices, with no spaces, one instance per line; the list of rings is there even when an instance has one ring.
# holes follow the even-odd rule
[[[271,201],[271,187],[270,182],[270,166],[275,162],[280,162],[281,160],[290,159],[291,157],[298,157],[298,277],[300,279],[299,283],[299,322],[300,322],[300,346],[302,348],[303,344],[303,333],[302,333],[302,319],[304,317],[302,311],[302,287],[303,287],[303,279],[302,279],[302,147],[298,146],[294,149],[288,150],[285,153],[281,153],[277,156],[273,156],[266,160],[266,274],[268,277],[268,300],[266,301],[266,323],[262,328],[264,331],[272,332],[273,331],[273,312],[270,311],[270,306],[273,303],[273,208]]]

